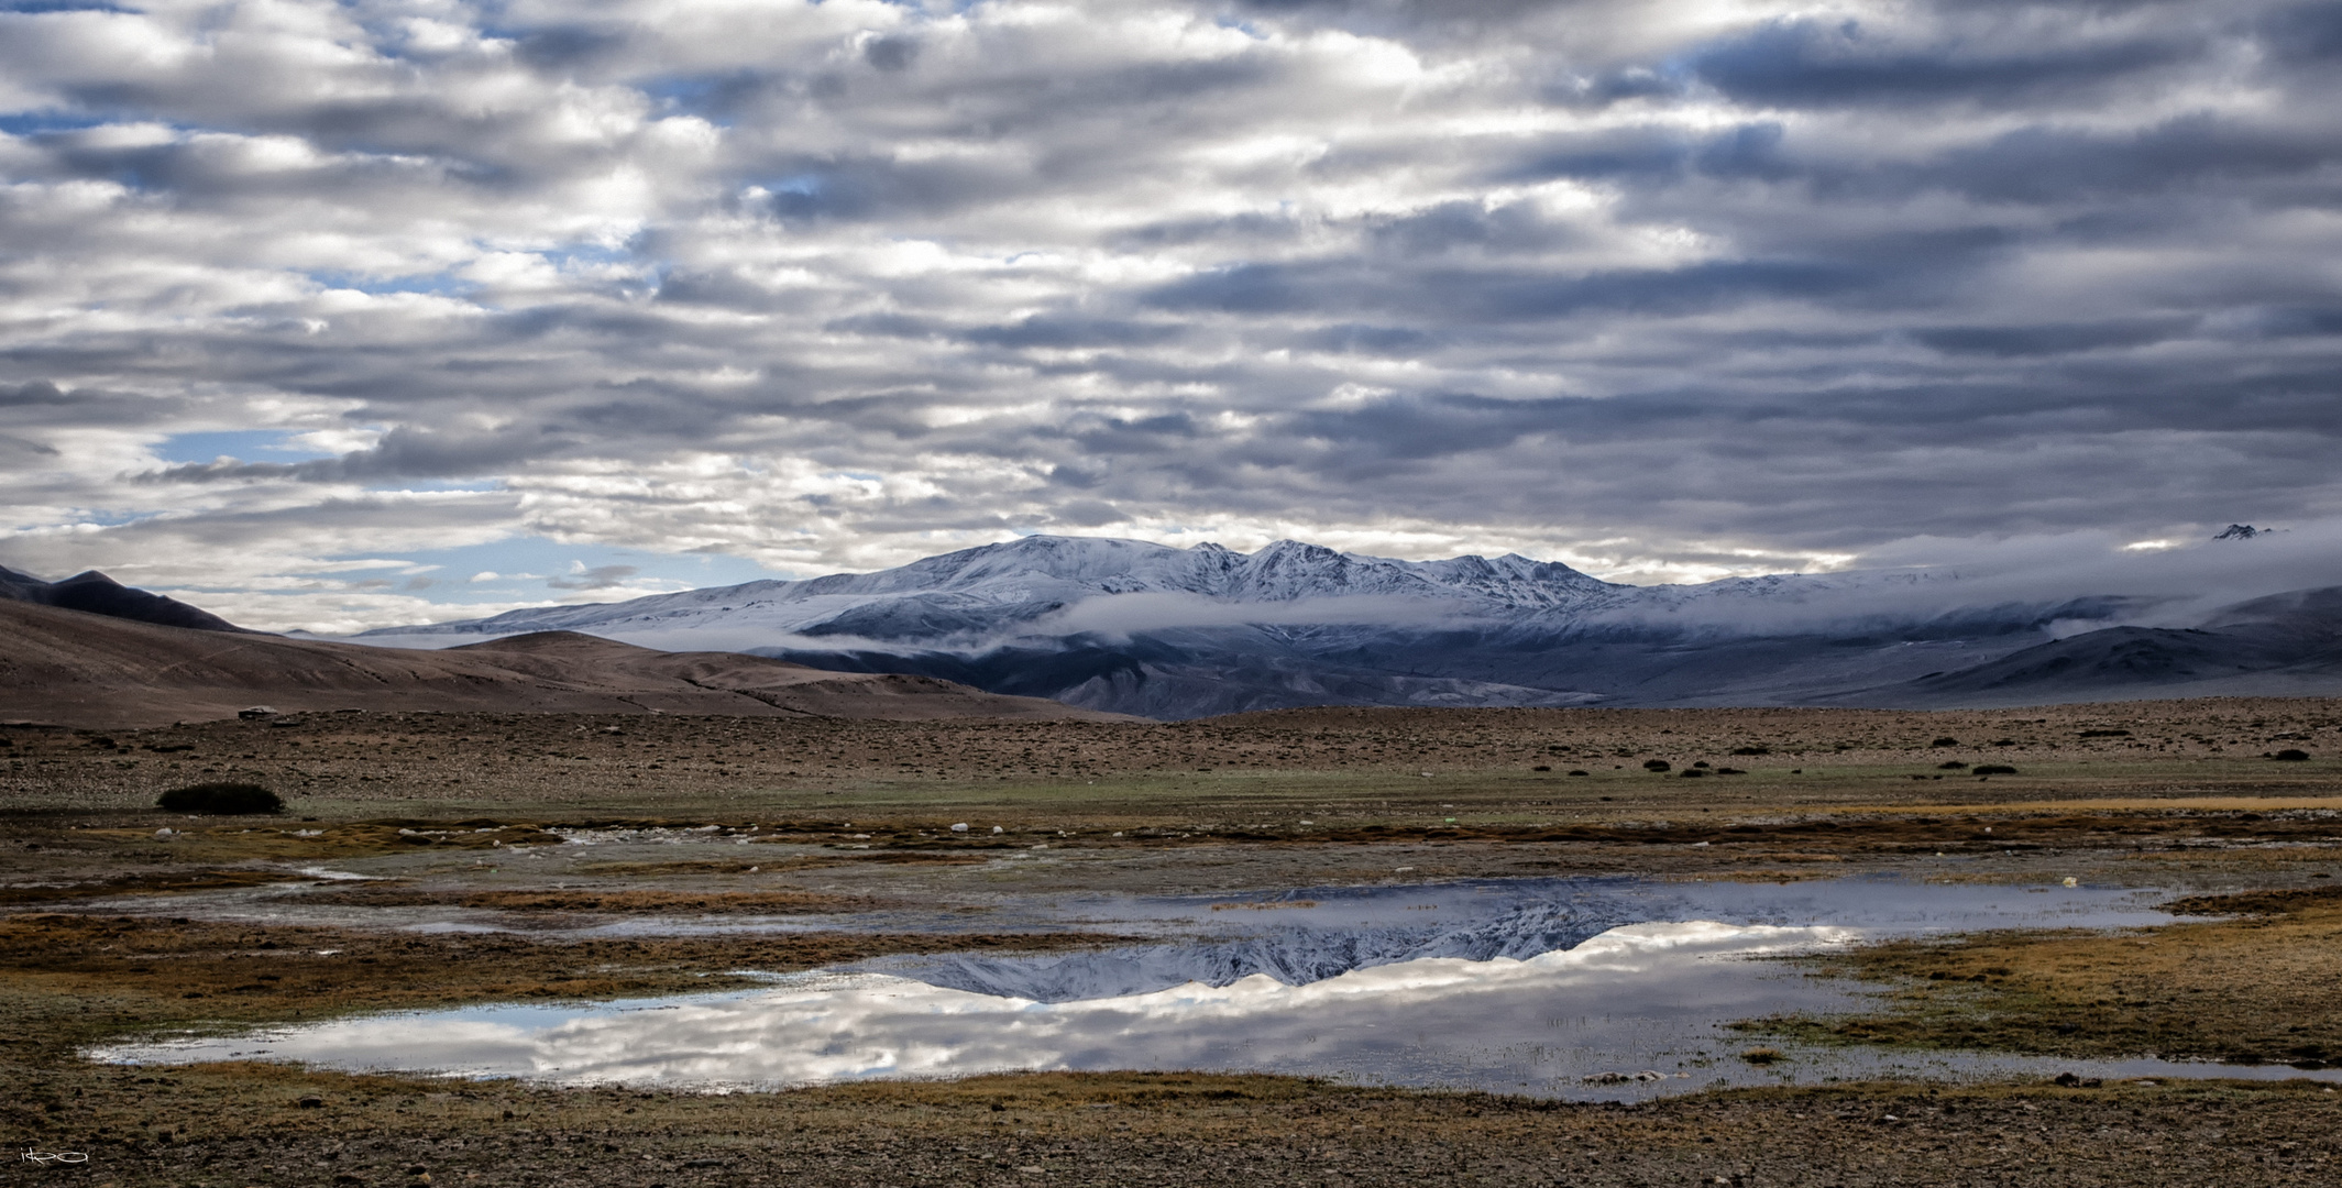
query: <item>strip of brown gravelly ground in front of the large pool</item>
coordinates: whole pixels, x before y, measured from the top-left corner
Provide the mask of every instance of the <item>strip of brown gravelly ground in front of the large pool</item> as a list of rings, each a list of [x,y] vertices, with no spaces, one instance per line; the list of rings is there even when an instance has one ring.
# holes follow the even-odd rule
[[[276,1071],[220,1094],[232,1078],[171,1076],[176,1108],[91,1136],[84,1115],[155,1108],[136,1078],[101,1076],[129,1085],[89,1085],[37,1139],[89,1165],[12,1181],[2237,1186],[2333,1183],[2342,1146],[2342,1097],[2307,1085],[1855,1085],[1567,1106],[1141,1073],[740,1097]],[[300,1108],[304,1094],[321,1104]]]

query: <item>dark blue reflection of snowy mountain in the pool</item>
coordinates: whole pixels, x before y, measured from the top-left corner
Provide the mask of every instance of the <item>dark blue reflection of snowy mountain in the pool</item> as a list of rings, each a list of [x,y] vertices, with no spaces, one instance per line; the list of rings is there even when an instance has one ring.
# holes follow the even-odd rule
[[[1571,902],[1539,902],[1506,912],[1499,919],[1440,928],[1438,923],[1365,923],[1356,928],[1286,926],[1237,940],[1197,944],[1145,944],[1073,956],[974,956],[888,961],[890,975],[930,986],[1028,998],[1035,1003],[1077,1003],[1117,998],[1201,982],[1227,986],[1265,972],[1288,986],[1321,982],[1368,965],[1415,961],[1422,956],[1459,956],[1487,961],[1497,956],[1529,958],[1571,949],[1588,937],[1668,914],[1653,900],[1614,900],[1576,895]]]

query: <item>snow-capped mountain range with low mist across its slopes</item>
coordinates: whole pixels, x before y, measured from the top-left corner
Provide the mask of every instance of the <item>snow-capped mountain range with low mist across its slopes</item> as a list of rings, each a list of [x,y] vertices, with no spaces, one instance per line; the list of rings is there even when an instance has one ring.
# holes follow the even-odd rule
[[[1932,694],[1909,682],[1942,684],[1946,672],[2112,628],[2145,607],[2120,595],[1986,598],[1930,572],[1623,586],[1520,555],[1417,562],[1302,541],[1237,553],[1023,537],[874,574],[520,609],[356,640],[450,647],[576,630],[1204,717],[1328,703],[1927,703]],[[2070,672],[2061,680],[2073,684]],[[1995,687],[1960,698],[2026,694]]]

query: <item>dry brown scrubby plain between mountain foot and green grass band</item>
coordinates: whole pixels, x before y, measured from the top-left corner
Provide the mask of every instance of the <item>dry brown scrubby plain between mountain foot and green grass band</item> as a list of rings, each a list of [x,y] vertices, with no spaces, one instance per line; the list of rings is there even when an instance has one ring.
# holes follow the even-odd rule
[[[1143,790],[1150,799],[1230,804],[1258,797],[1244,778],[1265,773],[1326,776],[1304,780],[1309,797],[1363,799],[1398,815],[1452,799],[1438,780],[1459,776],[1504,780],[1515,801],[1557,804],[1595,804],[1597,790],[1616,794],[1616,785],[1710,804],[1785,794],[1815,804],[1838,797],[1984,804],[2045,792],[2082,797],[2143,773],[2171,787],[2129,794],[2330,792],[2342,755],[2342,712],[2323,698],[1974,712],[1286,710],[1180,724],[351,712],[290,729],[208,722],[0,733],[9,738],[0,747],[0,792],[73,811],[143,806],[164,787],[208,778],[260,783],[286,794],[295,811],[326,801],[372,804],[375,813],[382,804],[508,813],[522,804],[742,794],[817,804],[806,797],[827,792],[932,801],[941,792],[958,806],[1054,813],[1082,804],[1096,815],[1110,808],[1105,801],[1127,797],[1098,792],[1089,780],[1122,780],[1124,792]],[[1937,747],[1937,738],[1958,745]],[[1766,755],[1733,755],[1747,747]],[[2319,759],[2262,759],[2281,747]],[[1668,759],[1677,771],[1712,762],[1749,773],[1682,780],[1646,776],[1644,759]],[[2009,764],[2021,776],[1979,783],[1944,771],[1944,762]],[[1569,778],[1569,769],[1593,776]],[[1438,780],[1410,783],[1422,771]],[[1347,797],[1328,797],[1342,787]]]

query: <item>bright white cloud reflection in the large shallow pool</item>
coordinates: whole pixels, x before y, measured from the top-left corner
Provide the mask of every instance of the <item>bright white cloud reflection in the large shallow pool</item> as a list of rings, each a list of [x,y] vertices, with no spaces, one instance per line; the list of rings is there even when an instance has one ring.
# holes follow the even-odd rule
[[[1639,923],[1532,958],[1415,958],[1288,986],[1035,1003],[885,975],[656,1008],[468,1010],[356,1019],[108,1059],[267,1054],[562,1083],[806,1085],[1005,1068],[1255,1068],[1410,1085],[1548,1085],[1644,1066],[1717,1017],[1806,979],[1712,956],[1810,949],[1836,928]]]

